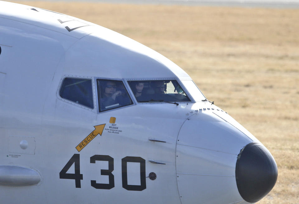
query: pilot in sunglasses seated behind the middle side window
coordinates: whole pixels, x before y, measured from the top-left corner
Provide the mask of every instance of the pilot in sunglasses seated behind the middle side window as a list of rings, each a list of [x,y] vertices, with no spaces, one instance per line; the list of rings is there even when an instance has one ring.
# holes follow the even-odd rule
[[[116,87],[116,83],[113,81],[107,81],[104,83],[104,86],[102,86],[102,107],[107,108],[108,106],[118,104],[116,97],[121,95],[121,91],[116,91]]]

